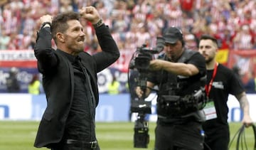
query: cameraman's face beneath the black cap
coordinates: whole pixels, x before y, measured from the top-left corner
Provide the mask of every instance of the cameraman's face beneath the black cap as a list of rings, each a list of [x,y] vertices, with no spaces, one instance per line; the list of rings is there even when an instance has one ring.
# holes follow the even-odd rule
[[[171,59],[172,61],[176,61],[183,52],[182,43],[181,41],[177,41],[174,44],[165,43],[164,50],[169,59]]]

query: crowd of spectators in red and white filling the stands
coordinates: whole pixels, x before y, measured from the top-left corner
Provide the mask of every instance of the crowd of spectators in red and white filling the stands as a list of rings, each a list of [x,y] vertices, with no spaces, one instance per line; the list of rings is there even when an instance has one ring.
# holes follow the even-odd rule
[[[131,52],[143,44],[154,47],[168,26],[177,26],[189,48],[209,33],[229,50],[256,50],[255,0],[2,0],[0,50],[33,49],[38,18],[92,5],[110,26],[120,50]],[[85,50],[100,50],[90,24],[85,26]],[[54,45],[54,43],[53,43]]]

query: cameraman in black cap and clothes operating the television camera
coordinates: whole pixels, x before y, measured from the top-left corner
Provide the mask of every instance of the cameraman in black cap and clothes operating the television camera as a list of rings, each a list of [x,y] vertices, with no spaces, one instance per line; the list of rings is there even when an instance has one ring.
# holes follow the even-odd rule
[[[155,150],[201,150],[200,102],[205,99],[206,65],[203,56],[184,46],[182,32],[172,26],[163,35],[164,55],[151,60],[146,90],[137,87],[139,97],[147,97],[157,85],[157,126]],[[198,94],[199,93],[199,94]]]

